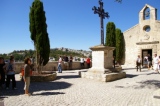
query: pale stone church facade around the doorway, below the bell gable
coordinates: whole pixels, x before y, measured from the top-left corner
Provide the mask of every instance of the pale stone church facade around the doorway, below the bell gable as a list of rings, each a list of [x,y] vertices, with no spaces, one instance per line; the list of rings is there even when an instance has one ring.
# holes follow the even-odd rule
[[[151,30],[145,32],[143,27],[145,25],[150,25]],[[146,37],[146,35],[149,36]],[[135,61],[137,55],[142,56],[142,50],[152,49],[152,57],[155,53],[160,56],[160,21],[145,21],[143,23],[136,25],[135,27],[124,32],[125,39],[125,58],[124,63],[127,66],[135,66]],[[159,41],[155,44],[142,44],[138,45],[136,43],[141,42],[154,42]]]

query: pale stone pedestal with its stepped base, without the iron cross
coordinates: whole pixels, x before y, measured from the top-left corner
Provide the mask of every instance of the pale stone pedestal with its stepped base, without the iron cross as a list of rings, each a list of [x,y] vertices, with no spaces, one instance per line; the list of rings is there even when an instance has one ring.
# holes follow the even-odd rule
[[[112,67],[115,47],[98,45],[90,49],[92,50],[92,67],[87,72],[81,72],[82,78],[108,82],[126,77],[125,72],[118,72]]]

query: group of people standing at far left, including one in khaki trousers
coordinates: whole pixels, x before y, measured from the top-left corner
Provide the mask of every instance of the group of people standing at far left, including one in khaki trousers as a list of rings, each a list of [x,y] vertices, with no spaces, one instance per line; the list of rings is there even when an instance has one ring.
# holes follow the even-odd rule
[[[26,58],[24,61],[24,90],[25,95],[30,95],[29,93],[29,85],[30,85],[30,71],[31,71],[31,59]],[[4,58],[0,57],[0,89],[10,88],[10,81],[12,80],[12,89],[16,90],[16,79],[15,79],[15,65],[14,65],[14,57],[10,56],[9,62],[5,63]]]

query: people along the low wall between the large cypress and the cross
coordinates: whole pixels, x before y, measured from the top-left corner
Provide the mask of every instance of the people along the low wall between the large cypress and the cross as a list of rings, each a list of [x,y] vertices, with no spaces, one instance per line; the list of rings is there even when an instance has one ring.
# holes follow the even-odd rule
[[[59,56],[59,59],[58,59],[58,73],[62,73],[62,63],[64,62],[64,67],[65,69],[70,69],[72,70],[72,62],[73,62],[73,57],[70,56],[68,58],[68,56]],[[90,68],[90,63],[91,63],[91,60],[90,58],[87,58],[86,61],[84,58],[80,58],[80,64],[81,64],[81,68],[84,68],[84,63],[87,63],[87,67]]]

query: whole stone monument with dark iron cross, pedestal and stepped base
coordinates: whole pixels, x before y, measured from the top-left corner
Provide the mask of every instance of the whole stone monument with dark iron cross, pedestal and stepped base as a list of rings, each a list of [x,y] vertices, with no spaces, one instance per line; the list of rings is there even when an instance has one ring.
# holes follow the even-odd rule
[[[92,50],[92,68],[87,72],[81,72],[82,78],[95,79],[99,81],[113,81],[126,77],[125,72],[117,71],[113,68],[113,50],[115,47],[104,46],[104,28],[103,19],[109,17],[108,12],[103,9],[103,2],[99,0],[100,7],[93,7],[95,14],[100,17],[101,23],[101,45],[91,47]]]

